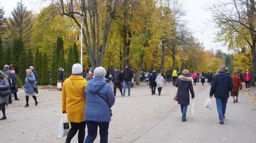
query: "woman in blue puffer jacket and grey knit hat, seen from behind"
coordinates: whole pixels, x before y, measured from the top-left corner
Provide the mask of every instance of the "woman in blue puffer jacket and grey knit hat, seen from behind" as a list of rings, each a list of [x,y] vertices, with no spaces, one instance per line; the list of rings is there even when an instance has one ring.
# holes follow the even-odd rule
[[[88,129],[84,143],[93,143],[97,137],[98,126],[100,143],[108,143],[110,108],[115,103],[115,96],[111,86],[103,79],[106,76],[106,70],[103,67],[95,68],[94,76],[93,80],[88,82],[84,92],[86,97],[84,120]]]

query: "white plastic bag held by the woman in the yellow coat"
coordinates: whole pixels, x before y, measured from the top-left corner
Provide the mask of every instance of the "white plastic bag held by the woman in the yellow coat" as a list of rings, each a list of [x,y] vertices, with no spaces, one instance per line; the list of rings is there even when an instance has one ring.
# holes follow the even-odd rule
[[[69,132],[69,121],[67,121],[67,113],[61,114],[61,123],[59,124],[59,138],[67,135]]]

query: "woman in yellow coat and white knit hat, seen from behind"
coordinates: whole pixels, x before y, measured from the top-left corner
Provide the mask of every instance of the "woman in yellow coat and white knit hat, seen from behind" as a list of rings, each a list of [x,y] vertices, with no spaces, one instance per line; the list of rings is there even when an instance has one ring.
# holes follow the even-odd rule
[[[79,130],[78,143],[84,142],[86,126],[84,121],[84,107],[86,103],[84,90],[87,80],[81,76],[82,72],[83,67],[79,63],[74,64],[72,75],[65,80],[62,87],[62,113],[67,113],[67,120],[71,124],[66,143],[70,143],[77,130]]]

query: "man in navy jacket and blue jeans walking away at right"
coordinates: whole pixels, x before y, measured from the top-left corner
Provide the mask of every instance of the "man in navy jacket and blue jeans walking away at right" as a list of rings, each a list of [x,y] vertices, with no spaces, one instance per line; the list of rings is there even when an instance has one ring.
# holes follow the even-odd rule
[[[226,74],[226,67],[221,66],[220,72],[213,76],[211,83],[210,98],[214,95],[216,98],[217,110],[219,113],[219,123],[223,124],[226,113],[227,99],[229,91],[233,88],[232,78]]]

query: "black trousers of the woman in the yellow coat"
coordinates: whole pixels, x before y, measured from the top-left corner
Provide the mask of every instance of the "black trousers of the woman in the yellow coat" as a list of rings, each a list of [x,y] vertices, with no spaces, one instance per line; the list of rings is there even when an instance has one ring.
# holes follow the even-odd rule
[[[69,133],[67,133],[66,143],[70,143],[72,138],[76,135],[77,130],[79,130],[78,131],[78,143],[84,143],[85,126],[86,126],[85,121],[83,121],[81,123],[70,122],[70,124],[71,124],[71,128],[69,130]]]

